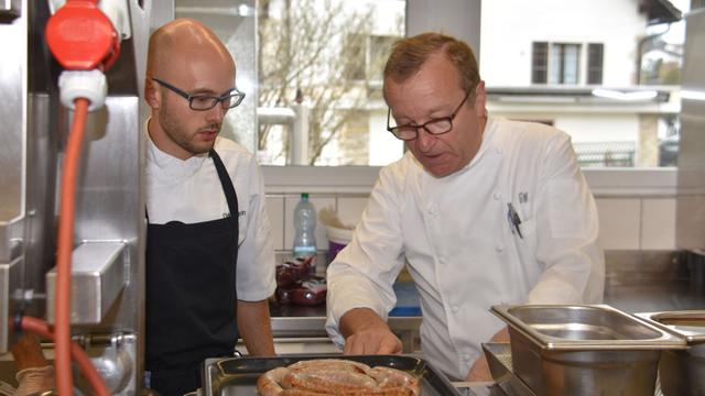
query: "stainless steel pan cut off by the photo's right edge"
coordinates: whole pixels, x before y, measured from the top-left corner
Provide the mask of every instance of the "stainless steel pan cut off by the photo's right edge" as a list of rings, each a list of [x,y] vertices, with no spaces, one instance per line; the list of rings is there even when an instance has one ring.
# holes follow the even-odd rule
[[[685,350],[663,351],[659,361],[661,391],[665,396],[705,395],[705,310],[637,314],[687,344]]]

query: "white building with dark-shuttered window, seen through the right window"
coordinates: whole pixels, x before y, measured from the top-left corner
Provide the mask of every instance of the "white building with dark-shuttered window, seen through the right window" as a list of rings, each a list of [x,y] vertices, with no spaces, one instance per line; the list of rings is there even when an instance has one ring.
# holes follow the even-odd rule
[[[550,122],[584,167],[672,165],[680,19],[662,0],[482,1],[489,113]]]

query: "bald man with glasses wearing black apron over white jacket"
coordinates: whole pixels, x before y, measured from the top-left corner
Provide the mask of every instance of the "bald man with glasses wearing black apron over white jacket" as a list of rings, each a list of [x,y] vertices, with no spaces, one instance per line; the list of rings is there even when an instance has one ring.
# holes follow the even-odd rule
[[[218,136],[245,99],[235,77],[228,50],[196,21],[172,21],[150,38],[145,367],[161,395],[198,388],[203,361],[231,356],[238,337],[251,355],[274,355],[261,173]]]

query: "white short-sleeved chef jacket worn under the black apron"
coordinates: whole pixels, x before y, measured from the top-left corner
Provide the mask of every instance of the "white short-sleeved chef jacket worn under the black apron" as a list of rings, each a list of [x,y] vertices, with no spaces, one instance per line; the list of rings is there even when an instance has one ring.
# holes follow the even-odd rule
[[[160,151],[149,133],[147,141],[150,223],[195,223],[230,213],[216,167],[207,153],[183,161]],[[240,211],[236,270],[238,299],[260,301],[271,296],[276,287],[274,246],[262,175],[253,155],[237,143],[217,138],[215,148],[230,175]]]

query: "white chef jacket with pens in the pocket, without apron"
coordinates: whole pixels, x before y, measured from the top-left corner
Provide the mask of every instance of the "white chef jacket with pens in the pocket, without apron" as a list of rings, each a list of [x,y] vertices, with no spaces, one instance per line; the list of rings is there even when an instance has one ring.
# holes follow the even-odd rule
[[[508,219],[517,211],[521,237]],[[605,262],[595,200],[567,134],[489,119],[477,155],[436,178],[411,153],[380,172],[352,241],[327,270],[326,330],[368,307],[382,319],[404,264],[419,292],[425,359],[464,380],[505,323],[500,304],[595,304]]]

